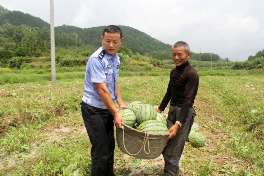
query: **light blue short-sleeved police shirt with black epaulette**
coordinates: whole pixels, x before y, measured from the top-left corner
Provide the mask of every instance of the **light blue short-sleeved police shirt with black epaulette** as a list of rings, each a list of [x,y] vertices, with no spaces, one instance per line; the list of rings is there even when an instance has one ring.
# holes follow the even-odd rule
[[[115,83],[119,75],[119,59],[116,53],[112,57],[104,51],[103,47],[100,47],[90,56],[86,65],[82,101],[97,108],[107,109],[98,94],[95,83],[106,83],[112,101],[117,100]]]

